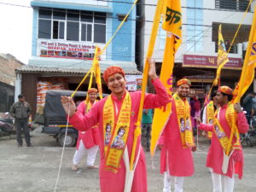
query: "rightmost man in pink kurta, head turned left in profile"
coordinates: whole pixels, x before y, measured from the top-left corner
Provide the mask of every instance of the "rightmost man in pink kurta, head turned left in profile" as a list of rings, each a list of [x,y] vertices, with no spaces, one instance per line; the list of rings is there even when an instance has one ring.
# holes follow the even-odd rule
[[[225,88],[225,89],[223,89]],[[215,117],[218,118],[219,124],[224,129],[224,134],[230,138],[230,125],[226,119],[227,108],[230,105],[232,99],[232,90],[227,86],[222,86],[218,89],[216,100],[219,104],[218,114]],[[241,111],[241,107],[238,103],[234,105],[235,113],[237,115],[236,125],[240,133],[246,133],[248,131],[247,119]],[[228,171],[226,174],[222,171],[224,160],[224,149],[222,148],[218,135],[219,131],[213,131],[213,125],[200,124],[199,128],[204,131],[212,131],[212,143],[207,154],[207,167],[212,172],[212,184],[214,192],[221,192],[221,175],[224,175],[224,191],[232,192],[234,188],[234,174],[237,173],[239,178],[242,177],[243,169],[243,154],[242,149],[234,149],[233,154],[230,156]],[[233,137],[232,144],[236,143],[236,137]]]

